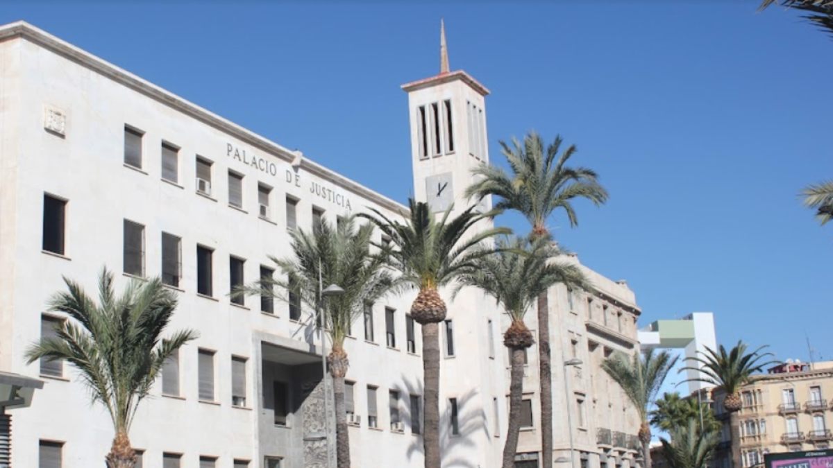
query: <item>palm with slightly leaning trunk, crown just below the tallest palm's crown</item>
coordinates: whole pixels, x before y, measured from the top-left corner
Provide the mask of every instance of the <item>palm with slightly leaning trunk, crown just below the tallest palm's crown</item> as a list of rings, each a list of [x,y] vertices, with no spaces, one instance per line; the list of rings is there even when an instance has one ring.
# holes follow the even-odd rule
[[[541,291],[556,283],[584,289],[591,286],[577,266],[555,260],[561,252],[547,239],[501,238],[496,247],[496,251],[474,261],[474,268],[459,278],[456,291],[463,286],[479,287],[494,297],[512,320],[503,336],[503,344],[511,350],[512,357],[509,430],[503,447],[503,468],[514,468],[521,430],[524,353],[534,342],[523,317]]]

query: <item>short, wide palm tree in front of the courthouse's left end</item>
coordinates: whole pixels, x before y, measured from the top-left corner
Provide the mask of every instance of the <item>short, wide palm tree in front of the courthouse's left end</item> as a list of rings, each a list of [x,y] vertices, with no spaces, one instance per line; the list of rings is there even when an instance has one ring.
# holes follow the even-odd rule
[[[130,425],[138,404],[147,396],[164,362],[197,333],[182,330],[162,338],[177,308],[177,295],[162,281],[132,281],[117,296],[113,274],[98,276],[98,302],[77,282],[63,278],[68,291],[49,301],[49,309],[73,320],[56,328],[56,337],[42,338],[26,351],[28,364],[63,359],[76,367],[92,396],[107,408],[116,436],[105,461],[108,468],[132,468]]]

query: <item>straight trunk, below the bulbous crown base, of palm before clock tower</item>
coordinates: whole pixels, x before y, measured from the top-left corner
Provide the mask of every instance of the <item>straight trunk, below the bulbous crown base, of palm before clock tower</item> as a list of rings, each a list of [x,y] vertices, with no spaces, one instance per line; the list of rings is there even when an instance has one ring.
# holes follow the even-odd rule
[[[440,325],[431,321],[422,324],[421,329],[425,379],[425,404],[422,407],[425,468],[440,468]]]

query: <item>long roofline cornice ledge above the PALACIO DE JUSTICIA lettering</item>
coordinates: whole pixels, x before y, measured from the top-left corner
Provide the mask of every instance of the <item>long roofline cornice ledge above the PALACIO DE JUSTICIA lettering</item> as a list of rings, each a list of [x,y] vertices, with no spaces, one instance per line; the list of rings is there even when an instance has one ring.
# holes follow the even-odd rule
[[[187,99],[179,97],[172,92],[166,91],[162,87],[158,87],[151,82],[137,77],[131,72],[127,72],[127,70],[103,60],[101,57],[92,55],[81,48],[73,46],[69,42],[65,42],[58,37],[52,36],[52,34],[34,27],[28,22],[18,21],[9,23],[5,26],[0,26],[0,42],[15,37],[22,37],[41,47],[45,47],[47,50],[55,52],[62,57],[66,57],[68,60],[72,60],[72,62],[77,62],[82,65],[82,67],[87,67],[93,72],[100,73],[102,76],[110,78],[114,82],[129,87],[130,89],[140,92],[147,97],[151,97],[158,102],[162,102],[162,104],[182,112],[189,117],[193,117],[200,122],[215,127],[217,130],[226,132],[229,136],[235,137],[241,142],[246,142],[247,144],[252,145],[252,147],[257,147],[261,151],[266,152],[273,157],[277,157],[284,162],[292,162],[292,160],[296,157],[295,152],[282,147],[276,142],[272,142],[266,137],[262,137],[255,132],[247,130],[236,123],[208,111],[204,107],[197,106],[197,104],[194,104]],[[379,206],[385,207],[392,212],[407,212],[407,207],[402,205],[402,203],[385,197],[381,193],[373,192],[358,182],[339,175],[316,162],[310,161],[306,157],[302,160],[301,168],[316,175],[317,177],[327,180],[328,182],[332,182],[347,191],[353,192],[359,197],[376,202]]]

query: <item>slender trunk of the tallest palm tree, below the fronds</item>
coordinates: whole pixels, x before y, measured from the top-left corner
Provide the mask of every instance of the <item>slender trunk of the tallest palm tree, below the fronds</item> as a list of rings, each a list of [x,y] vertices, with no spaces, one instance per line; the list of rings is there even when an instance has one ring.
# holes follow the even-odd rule
[[[550,306],[546,291],[538,295],[538,363],[541,380],[541,466],[552,468],[552,369]]]

